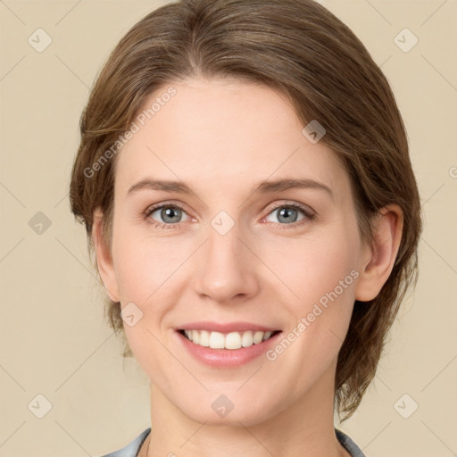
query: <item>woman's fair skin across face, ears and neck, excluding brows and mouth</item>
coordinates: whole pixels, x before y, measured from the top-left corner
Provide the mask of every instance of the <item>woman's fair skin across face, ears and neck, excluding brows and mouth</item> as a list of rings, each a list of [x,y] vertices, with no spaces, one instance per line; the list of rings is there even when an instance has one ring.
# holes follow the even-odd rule
[[[124,322],[151,380],[152,435],[140,455],[347,457],[333,422],[337,354],[354,300],[376,297],[394,266],[402,211],[386,206],[374,244],[363,244],[349,176],[327,146],[303,136],[285,96],[236,79],[186,79],[145,106],[170,86],[177,94],[119,153],[111,243],[101,236],[99,210],[93,230],[111,299],[143,312],[133,327]],[[147,177],[184,181],[195,195],[142,189],[127,196]],[[333,194],[251,192],[258,181],[279,178],[314,179]],[[149,216],[153,224],[142,218],[163,202],[183,207],[173,219],[179,228],[156,228],[177,224],[160,210]],[[273,209],[294,203],[315,218],[293,210],[296,220],[287,222],[282,206]],[[220,211],[235,222],[223,236],[211,225]],[[275,361],[211,368],[173,330],[194,320],[246,320],[287,335],[351,270],[358,278]],[[224,418],[211,407],[222,394],[234,404]]]

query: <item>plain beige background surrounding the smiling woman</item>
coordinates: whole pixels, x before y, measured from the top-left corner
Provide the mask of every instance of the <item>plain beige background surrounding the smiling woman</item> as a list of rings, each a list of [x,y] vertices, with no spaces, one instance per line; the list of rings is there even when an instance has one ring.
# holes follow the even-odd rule
[[[104,291],[67,193],[79,114],[96,73],[129,27],[164,3],[0,1],[1,456],[99,455],[150,424],[148,379],[136,361],[122,361],[120,342],[104,323]],[[457,1],[321,3],[361,38],[392,84],[425,212],[418,287],[403,304],[375,382],[340,428],[369,457],[451,457]],[[53,40],[41,53],[28,42],[38,28]],[[394,41],[404,28],[419,39],[408,53]],[[43,218],[37,212],[51,222],[41,234],[32,219]],[[46,400],[37,395],[52,403],[42,419],[35,413],[44,412]],[[398,411],[411,412],[413,402],[419,408],[403,419]]]

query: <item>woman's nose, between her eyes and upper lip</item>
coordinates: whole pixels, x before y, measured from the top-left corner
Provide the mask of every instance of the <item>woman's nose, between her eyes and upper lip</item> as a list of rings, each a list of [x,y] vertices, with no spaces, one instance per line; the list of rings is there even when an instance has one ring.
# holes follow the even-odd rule
[[[210,227],[202,246],[195,291],[218,303],[245,301],[259,291],[259,265],[253,246],[241,238],[237,224],[225,235]]]

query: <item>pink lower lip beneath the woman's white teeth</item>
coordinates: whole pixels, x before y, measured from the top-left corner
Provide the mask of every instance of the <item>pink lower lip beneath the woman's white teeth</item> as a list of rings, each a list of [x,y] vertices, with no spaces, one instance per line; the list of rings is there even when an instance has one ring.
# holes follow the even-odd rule
[[[273,337],[262,341],[258,345],[249,347],[241,347],[239,349],[212,349],[195,345],[187,337],[176,331],[182,345],[191,353],[197,361],[201,361],[206,365],[218,368],[232,368],[245,365],[249,361],[253,361],[256,357],[265,353],[271,345],[275,345],[282,332],[277,333]]]

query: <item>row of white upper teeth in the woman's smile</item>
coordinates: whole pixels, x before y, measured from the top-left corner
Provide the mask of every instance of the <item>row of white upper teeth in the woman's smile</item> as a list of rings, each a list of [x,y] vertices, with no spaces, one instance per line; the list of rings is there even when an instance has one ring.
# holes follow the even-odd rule
[[[207,330],[184,330],[186,337],[195,345],[211,347],[212,349],[240,349],[258,345],[271,337],[271,331],[261,332],[247,330],[245,332],[209,332]]]

